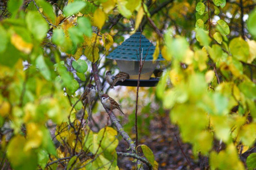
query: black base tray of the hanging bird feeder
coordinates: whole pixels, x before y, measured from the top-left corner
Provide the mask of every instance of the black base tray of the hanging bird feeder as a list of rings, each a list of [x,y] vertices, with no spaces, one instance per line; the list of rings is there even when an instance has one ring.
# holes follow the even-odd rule
[[[149,80],[140,80],[140,87],[155,87],[158,83],[158,78],[151,77]],[[123,82],[116,82],[115,86],[132,86],[137,87],[138,80],[136,79],[126,79]]]

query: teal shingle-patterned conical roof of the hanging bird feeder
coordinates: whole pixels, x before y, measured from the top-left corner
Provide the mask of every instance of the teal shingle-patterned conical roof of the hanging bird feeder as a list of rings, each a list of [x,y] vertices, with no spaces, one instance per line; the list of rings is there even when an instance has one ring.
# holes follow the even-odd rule
[[[116,47],[108,56],[109,59],[117,60],[127,60],[127,61],[138,61],[138,56],[140,53],[140,32],[136,32],[131,35],[130,38],[126,39],[121,45]],[[144,35],[141,35],[141,51],[143,48],[143,57],[147,53],[147,49],[150,46],[151,42],[146,39]],[[137,52],[136,52],[137,50]],[[152,44],[148,50],[145,61],[153,61],[153,54],[155,51],[155,46]],[[161,54],[159,54],[157,61],[164,60]]]

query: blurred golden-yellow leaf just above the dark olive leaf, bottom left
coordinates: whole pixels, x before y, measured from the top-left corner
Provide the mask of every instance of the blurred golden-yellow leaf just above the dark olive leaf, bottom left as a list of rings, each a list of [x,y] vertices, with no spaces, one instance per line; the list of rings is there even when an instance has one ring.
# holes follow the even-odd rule
[[[42,143],[43,133],[35,123],[29,123],[26,126],[27,129],[27,142],[24,146],[24,151],[28,151],[32,148],[38,148]]]

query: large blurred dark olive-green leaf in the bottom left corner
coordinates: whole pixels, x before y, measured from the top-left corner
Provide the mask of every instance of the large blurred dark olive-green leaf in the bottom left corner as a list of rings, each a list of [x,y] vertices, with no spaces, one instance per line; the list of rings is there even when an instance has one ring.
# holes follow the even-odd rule
[[[33,149],[24,152],[26,142],[23,136],[17,135],[8,143],[7,157],[14,169],[37,169],[37,154]]]

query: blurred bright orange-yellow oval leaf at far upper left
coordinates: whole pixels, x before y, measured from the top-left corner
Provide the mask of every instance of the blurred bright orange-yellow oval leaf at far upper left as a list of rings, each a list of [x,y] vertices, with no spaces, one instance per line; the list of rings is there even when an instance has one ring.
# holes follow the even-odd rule
[[[33,44],[25,42],[18,34],[13,34],[11,43],[23,53],[29,54],[32,50]]]

